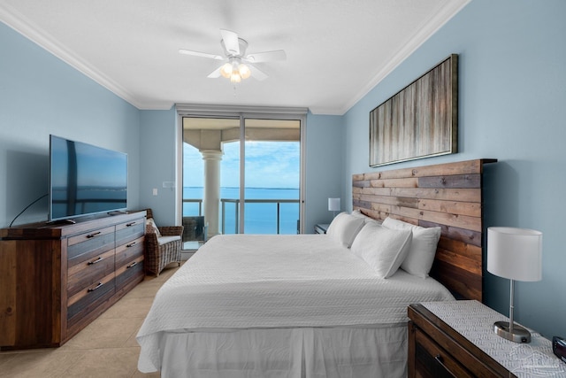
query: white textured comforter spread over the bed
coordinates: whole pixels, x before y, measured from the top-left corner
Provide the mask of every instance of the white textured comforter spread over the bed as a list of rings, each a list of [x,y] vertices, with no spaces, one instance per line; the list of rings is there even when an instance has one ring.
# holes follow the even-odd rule
[[[411,303],[451,299],[431,278],[376,278],[329,235],[218,235],[157,292],[138,367],[159,369],[164,332],[394,324]]]

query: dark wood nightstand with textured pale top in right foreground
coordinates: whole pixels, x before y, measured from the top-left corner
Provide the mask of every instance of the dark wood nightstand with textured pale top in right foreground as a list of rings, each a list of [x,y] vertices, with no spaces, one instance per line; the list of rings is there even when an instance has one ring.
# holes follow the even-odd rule
[[[532,332],[531,343],[513,343],[493,332],[509,320],[478,301],[409,305],[411,377],[566,377],[552,343]]]

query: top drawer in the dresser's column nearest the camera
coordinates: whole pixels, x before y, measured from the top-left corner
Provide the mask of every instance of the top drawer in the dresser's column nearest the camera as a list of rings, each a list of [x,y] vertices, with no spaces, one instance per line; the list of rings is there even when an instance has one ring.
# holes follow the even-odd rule
[[[68,267],[114,249],[114,226],[74,235],[67,242]]]

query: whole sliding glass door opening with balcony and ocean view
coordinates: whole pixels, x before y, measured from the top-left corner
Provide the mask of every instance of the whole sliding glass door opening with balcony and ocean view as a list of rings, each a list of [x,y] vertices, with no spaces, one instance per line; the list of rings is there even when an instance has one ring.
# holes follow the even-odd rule
[[[181,118],[183,249],[218,234],[295,234],[302,213],[302,117]]]

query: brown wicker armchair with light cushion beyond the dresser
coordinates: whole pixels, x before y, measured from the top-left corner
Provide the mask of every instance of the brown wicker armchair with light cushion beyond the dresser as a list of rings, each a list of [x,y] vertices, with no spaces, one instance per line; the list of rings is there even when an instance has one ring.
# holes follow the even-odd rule
[[[151,209],[146,209],[147,218],[153,219]],[[163,268],[173,262],[180,266],[182,226],[166,226],[156,229],[149,222],[145,228],[145,271],[159,275]]]

